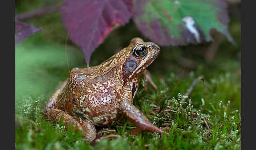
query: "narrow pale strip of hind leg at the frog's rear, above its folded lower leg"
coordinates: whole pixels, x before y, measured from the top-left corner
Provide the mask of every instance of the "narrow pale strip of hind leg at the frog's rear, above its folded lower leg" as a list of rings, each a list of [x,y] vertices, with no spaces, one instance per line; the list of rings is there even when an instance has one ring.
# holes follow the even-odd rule
[[[45,109],[44,109],[45,114],[51,109],[55,109],[54,106],[55,106],[55,103],[57,102],[58,94],[62,92],[66,83],[67,83],[67,80],[65,80],[60,86],[58,86],[57,90],[51,95],[49,101],[45,105]]]

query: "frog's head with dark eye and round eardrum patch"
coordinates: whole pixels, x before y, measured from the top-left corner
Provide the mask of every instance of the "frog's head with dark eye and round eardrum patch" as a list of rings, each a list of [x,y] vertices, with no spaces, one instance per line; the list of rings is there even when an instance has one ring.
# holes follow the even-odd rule
[[[129,47],[131,55],[123,65],[123,73],[129,78],[143,72],[160,53],[159,46],[153,42],[144,42],[141,38],[133,38]]]

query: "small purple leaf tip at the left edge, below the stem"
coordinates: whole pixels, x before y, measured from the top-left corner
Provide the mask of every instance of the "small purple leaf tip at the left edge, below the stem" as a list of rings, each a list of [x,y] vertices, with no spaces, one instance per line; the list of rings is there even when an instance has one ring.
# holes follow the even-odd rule
[[[15,20],[15,44],[21,44],[25,39],[29,36],[37,33],[38,31],[42,30],[43,27],[36,28],[31,25],[18,22]]]

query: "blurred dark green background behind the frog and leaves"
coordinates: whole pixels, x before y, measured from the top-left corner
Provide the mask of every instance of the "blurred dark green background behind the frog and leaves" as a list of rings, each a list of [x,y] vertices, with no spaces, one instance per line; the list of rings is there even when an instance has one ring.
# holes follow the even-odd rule
[[[62,2],[48,0],[15,1],[15,14],[20,15],[44,7],[58,6]],[[210,79],[227,71],[239,73],[241,55],[240,1],[227,0],[227,3],[229,4],[230,16],[229,32],[237,46],[232,45],[226,37],[213,30],[211,34],[214,38],[213,42],[178,47],[162,46],[159,58],[148,69],[154,73],[173,72],[181,76],[182,70],[185,68],[185,74],[195,71],[196,75],[203,75],[205,79]],[[18,89],[25,90],[24,85],[30,82],[23,78],[35,78],[29,79],[35,82],[48,82],[45,87],[40,87],[44,84],[39,84],[38,92],[41,93],[41,91],[52,91],[60,80],[64,80],[68,76],[65,56],[67,31],[61,14],[55,10],[52,13],[21,21],[44,29],[16,47],[16,99],[21,97],[18,94]],[[150,41],[150,39],[143,36],[134,25],[133,20],[130,19],[129,23],[111,31],[103,44],[95,49],[92,53],[90,66],[99,65],[102,61],[129,45],[133,37],[141,37],[144,41]],[[67,41],[67,57],[70,69],[86,67],[81,48],[73,44],[70,39]],[[34,76],[30,77],[33,74]],[[185,74],[183,75],[185,76]],[[31,81],[31,83],[34,84],[34,81]],[[35,92],[37,87],[33,86],[32,89]],[[31,93],[31,91],[27,93]]]

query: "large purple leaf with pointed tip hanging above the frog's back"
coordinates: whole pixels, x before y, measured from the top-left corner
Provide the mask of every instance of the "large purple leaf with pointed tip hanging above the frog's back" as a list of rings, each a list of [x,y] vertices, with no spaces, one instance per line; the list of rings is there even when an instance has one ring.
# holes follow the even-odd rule
[[[88,65],[94,49],[132,17],[132,0],[66,0],[61,14],[70,39],[80,46]]]

